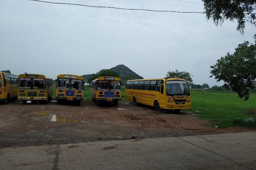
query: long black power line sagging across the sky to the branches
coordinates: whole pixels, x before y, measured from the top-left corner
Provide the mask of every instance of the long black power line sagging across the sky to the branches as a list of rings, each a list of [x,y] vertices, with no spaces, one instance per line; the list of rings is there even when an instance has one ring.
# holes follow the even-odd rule
[[[114,8],[114,9],[120,9],[120,10],[141,10],[141,11],[153,11],[153,12],[176,12],[176,13],[199,13],[199,14],[204,14],[204,12],[157,11],[157,10],[145,10],[145,9],[117,8],[117,7],[110,7],[110,6],[90,6],[90,5],[82,5],[82,4],[74,4],[74,3],[47,2],[47,1],[39,1],[39,0],[29,0],[29,1],[38,1],[38,2],[54,3],[54,4],[79,5],[79,6],[97,7],[97,8]]]

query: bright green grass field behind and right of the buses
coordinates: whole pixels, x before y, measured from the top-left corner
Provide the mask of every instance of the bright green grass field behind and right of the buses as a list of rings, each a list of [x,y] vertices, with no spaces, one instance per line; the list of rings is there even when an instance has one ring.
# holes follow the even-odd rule
[[[84,86],[84,95],[85,100],[91,100],[91,89],[88,85]],[[55,88],[52,97],[55,98]],[[126,100],[124,85],[122,86],[122,100]],[[209,120],[211,126],[214,127],[243,126],[256,129],[256,95],[254,93],[247,101],[244,101],[232,91],[191,89],[191,108],[185,111],[193,112],[199,118]],[[247,118],[254,118],[255,122],[245,122],[244,119]]]

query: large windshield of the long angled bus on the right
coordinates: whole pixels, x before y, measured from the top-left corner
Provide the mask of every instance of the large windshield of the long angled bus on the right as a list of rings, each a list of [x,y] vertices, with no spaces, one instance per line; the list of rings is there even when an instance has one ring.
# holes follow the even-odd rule
[[[186,81],[170,80],[166,81],[166,95],[190,95],[189,87]]]

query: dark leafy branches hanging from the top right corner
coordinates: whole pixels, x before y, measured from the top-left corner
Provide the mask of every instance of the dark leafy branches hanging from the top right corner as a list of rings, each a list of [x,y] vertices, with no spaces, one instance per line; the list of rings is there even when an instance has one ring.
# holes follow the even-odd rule
[[[224,20],[237,20],[237,31],[244,34],[247,21],[256,27],[255,0],[202,0],[207,19],[212,18],[216,26]],[[256,34],[254,35],[256,43]]]

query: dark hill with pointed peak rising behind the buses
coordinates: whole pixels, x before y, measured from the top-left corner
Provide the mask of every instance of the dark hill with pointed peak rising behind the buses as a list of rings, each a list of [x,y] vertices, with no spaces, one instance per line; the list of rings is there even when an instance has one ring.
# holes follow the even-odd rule
[[[140,75],[138,75],[136,72],[132,71],[131,69],[129,69],[128,67],[126,67],[125,65],[117,65],[113,68],[110,68],[111,70],[117,71],[120,75],[120,79],[122,80],[122,82],[126,82],[125,77],[128,75],[133,75],[134,78],[133,79],[143,79],[143,77],[141,77]],[[91,74],[85,74],[82,75],[82,77],[84,78],[84,81],[87,82],[88,78],[91,77]]]

